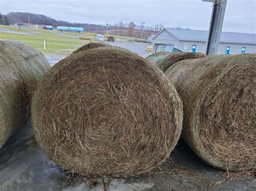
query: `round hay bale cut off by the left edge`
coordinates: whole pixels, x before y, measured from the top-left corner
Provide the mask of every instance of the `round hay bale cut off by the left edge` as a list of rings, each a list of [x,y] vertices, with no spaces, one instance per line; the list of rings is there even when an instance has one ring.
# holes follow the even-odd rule
[[[50,68],[36,48],[0,41],[0,148],[25,121],[33,91]]]

